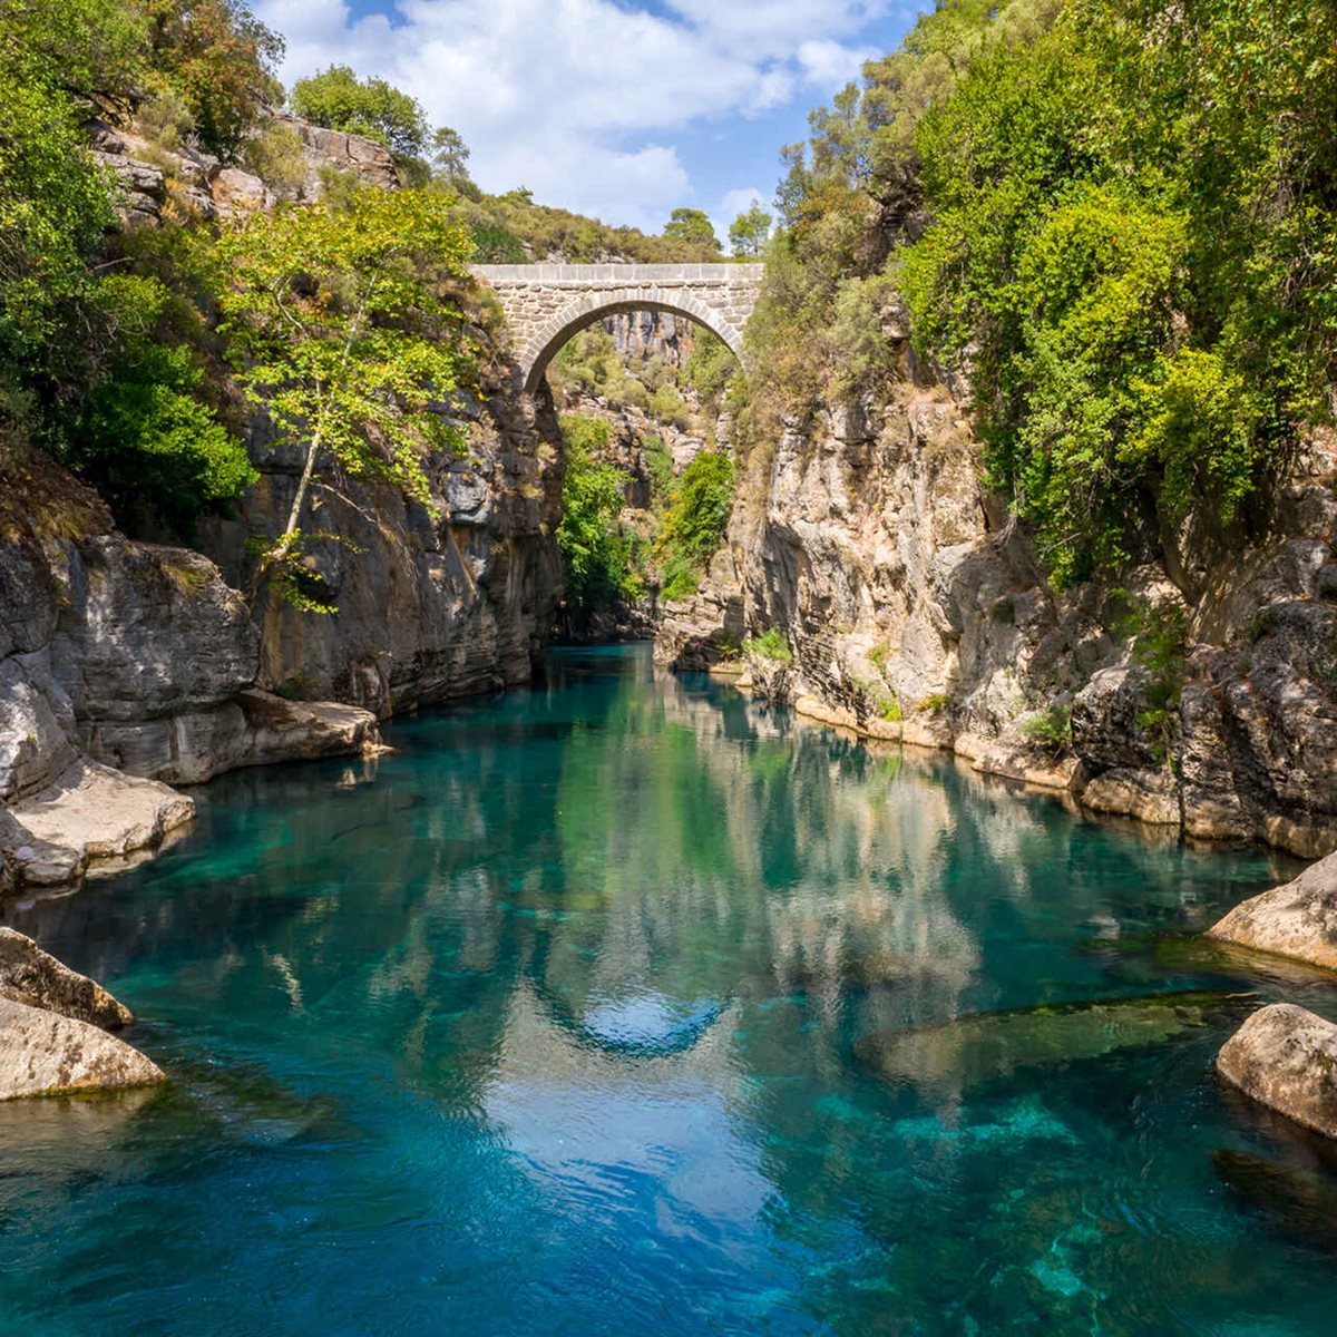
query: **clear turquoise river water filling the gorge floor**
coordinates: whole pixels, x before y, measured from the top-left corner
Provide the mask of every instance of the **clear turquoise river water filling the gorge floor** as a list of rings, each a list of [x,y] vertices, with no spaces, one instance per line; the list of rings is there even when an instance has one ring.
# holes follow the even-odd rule
[[[1337,1330],[1337,1178],[1210,1071],[1254,1000],[896,1039],[1178,989],[1333,1013],[1185,936],[1292,866],[643,648],[390,737],[7,908],[175,1080],[0,1107],[0,1332]]]

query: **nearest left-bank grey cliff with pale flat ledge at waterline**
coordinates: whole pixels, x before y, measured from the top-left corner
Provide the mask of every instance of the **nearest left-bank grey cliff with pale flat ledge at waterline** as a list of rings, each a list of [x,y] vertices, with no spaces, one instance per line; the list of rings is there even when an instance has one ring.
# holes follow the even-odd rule
[[[237,766],[361,751],[374,717],[254,687],[241,595],[186,548],[116,533],[41,455],[0,471],[0,889],[51,885],[190,821]]]

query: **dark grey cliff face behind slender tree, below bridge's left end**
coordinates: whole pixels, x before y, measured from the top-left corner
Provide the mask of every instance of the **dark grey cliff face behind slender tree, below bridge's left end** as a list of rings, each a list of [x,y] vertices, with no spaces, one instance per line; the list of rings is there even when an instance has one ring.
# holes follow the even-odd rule
[[[338,611],[313,618],[274,598],[259,683],[303,701],[340,701],[385,718],[417,706],[529,682],[562,591],[559,432],[551,402],[505,392],[467,406],[464,459],[428,472],[437,515],[390,485],[352,481],[321,493],[321,528],[358,551],[316,543],[309,563]],[[261,479],[235,521],[201,525],[202,548],[245,586],[250,535],[277,532],[301,460],[251,435]]]

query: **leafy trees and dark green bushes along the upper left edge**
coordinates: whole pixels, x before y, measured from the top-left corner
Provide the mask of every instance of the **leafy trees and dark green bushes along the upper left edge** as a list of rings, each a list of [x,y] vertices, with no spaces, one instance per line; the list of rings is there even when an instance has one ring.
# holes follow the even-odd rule
[[[82,468],[187,527],[251,477],[219,417],[175,230],[110,239],[112,178],[84,122],[139,107],[146,130],[227,154],[277,90],[278,40],[239,4],[25,0],[0,41],[0,440]]]

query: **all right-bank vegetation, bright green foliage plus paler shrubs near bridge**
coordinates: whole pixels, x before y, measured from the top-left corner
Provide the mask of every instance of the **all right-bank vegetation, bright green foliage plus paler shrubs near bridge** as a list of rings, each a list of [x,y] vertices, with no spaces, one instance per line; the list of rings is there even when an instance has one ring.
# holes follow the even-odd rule
[[[940,0],[812,130],[749,330],[754,435],[898,374],[908,313],[1058,583],[1266,524],[1333,412],[1337,11]]]

